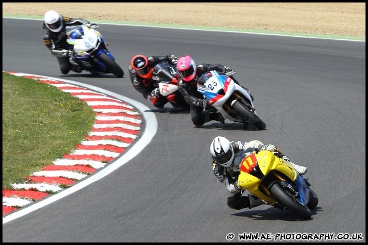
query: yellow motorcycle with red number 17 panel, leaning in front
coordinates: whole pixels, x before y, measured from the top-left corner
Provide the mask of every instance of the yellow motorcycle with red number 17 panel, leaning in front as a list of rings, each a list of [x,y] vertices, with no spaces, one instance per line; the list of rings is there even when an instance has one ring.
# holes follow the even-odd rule
[[[282,158],[279,149],[256,150],[250,155],[242,151],[234,160],[234,168],[240,170],[239,186],[269,205],[290,210],[303,219],[309,219],[311,209],[318,205],[311,184]]]

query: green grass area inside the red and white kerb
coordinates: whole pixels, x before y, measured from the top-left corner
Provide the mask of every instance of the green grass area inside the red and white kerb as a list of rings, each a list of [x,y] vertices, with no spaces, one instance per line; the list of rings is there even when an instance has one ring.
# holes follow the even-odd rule
[[[3,189],[71,153],[94,123],[70,93],[3,72]]]

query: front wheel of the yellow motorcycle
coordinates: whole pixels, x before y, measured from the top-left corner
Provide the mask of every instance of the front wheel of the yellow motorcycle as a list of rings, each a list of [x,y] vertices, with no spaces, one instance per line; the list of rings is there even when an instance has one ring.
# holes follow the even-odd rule
[[[270,192],[273,194],[274,199],[277,202],[287,207],[287,209],[297,216],[300,216],[303,219],[310,219],[312,216],[312,212],[307,205],[302,205],[295,198],[291,197],[291,195],[289,195],[278,183],[271,186]]]

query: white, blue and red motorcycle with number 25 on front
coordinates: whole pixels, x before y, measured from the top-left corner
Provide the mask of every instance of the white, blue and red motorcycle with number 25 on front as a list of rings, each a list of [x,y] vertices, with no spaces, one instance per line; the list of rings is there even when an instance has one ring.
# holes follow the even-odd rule
[[[235,73],[225,76],[216,70],[205,72],[198,80],[197,90],[224,118],[241,122],[244,129],[264,130],[266,124],[256,114],[249,93],[232,79]]]

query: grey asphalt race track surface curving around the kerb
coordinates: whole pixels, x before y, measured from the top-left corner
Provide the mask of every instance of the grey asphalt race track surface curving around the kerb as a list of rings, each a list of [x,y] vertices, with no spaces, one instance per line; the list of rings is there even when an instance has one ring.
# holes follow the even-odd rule
[[[3,71],[127,96],[155,113],[157,132],[106,177],[3,224],[3,242],[226,242],[231,233],[231,241],[251,233],[277,241],[365,242],[365,41],[113,24],[100,24],[99,31],[124,70],[121,79],[62,75],[42,42],[40,20],[3,18]],[[197,64],[233,68],[254,95],[266,130],[245,131],[229,120],[194,128],[188,111],[154,108],[129,80],[136,54],[191,55]],[[307,166],[319,197],[312,218],[265,205],[229,209],[227,190],[212,171],[215,136],[272,143]]]

